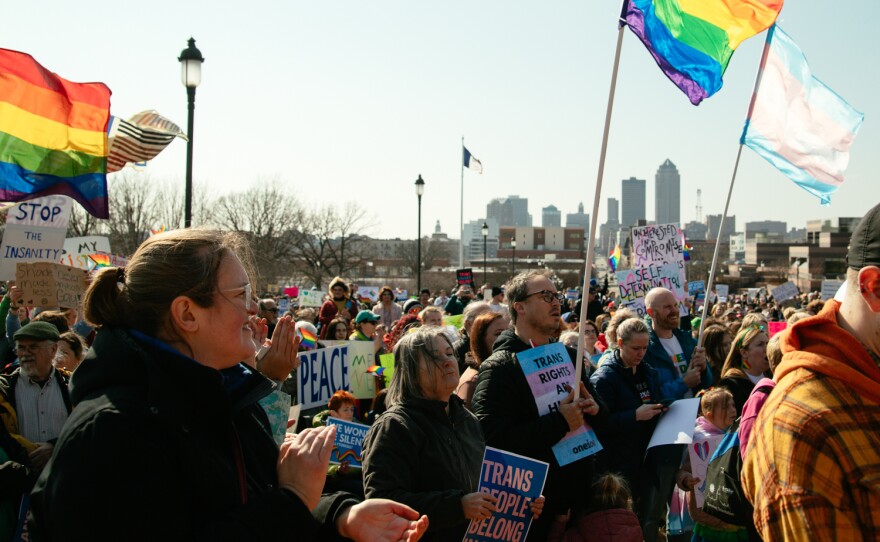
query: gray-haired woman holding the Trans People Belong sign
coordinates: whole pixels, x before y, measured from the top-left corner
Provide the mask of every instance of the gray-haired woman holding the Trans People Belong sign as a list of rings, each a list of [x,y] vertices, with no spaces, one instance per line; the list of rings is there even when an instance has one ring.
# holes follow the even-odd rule
[[[452,393],[452,343],[442,328],[420,327],[397,343],[394,365],[389,408],[364,439],[367,498],[427,514],[425,540],[459,541],[467,520],[488,518],[496,499],[477,492],[485,443],[477,419]]]

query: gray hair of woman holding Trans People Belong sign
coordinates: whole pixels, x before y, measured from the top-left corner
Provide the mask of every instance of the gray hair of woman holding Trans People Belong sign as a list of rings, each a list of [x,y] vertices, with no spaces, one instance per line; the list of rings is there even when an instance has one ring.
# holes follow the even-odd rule
[[[424,359],[428,365],[439,366],[441,353],[434,347],[434,339],[443,337],[449,346],[452,343],[442,327],[418,327],[405,334],[394,346],[394,376],[388,385],[385,403],[391,407],[407,399],[424,397],[419,384],[419,362]]]

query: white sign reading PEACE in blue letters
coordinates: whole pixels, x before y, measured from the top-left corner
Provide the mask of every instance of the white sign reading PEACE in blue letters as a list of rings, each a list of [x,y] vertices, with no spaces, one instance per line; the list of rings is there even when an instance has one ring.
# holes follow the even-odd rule
[[[297,398],[304,409],[326,405],[339,390],[349,391],[347,344],[300,352],[299,360]]]

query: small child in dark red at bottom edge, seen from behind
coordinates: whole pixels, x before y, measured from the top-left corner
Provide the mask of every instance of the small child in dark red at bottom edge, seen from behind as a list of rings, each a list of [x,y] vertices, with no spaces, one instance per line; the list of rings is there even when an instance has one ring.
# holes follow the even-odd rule
[[[632,494],[622,476],[605,474],[593,483],[590,510],[568,529],[570,513],[556,516],[547,542],[641,542],[642,528],[632,511]]]

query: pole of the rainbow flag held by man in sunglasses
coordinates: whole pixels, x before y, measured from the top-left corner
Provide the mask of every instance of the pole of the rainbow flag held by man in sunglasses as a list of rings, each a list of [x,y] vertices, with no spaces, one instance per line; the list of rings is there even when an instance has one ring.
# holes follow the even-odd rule
[[[602,197],[602,177],[605,173],[605,155],[608,150],[608,131],[611,127],[611,112],[614,108],[614,90],[617,87],[617,68],[620,66],[620,50],[623,46],[623,29],[625,24],[625,9],[627,2],[623,2],[620,13],[620,22],[617,31],[617,49],[614,51],[614,67],[611,69],[611,88],[608,90],[608,105],[605,108],[605,128],[602,133],[602,150],[599,152],[599,172],[596,175],[596,194],[593,197],[593,216],[590,217],[590,238],[587,240],[587,261],[584,263],[584,285],[581,289],[581,314],[578,318],[578,353],[574,372],[574,398],[580,397],[580,381],[584,370],[584,321],[587,319],[587,292],[590,287],[590,276],[593,271],[593,251],[596,248],[596,223],[599,219],[599,199]]]

